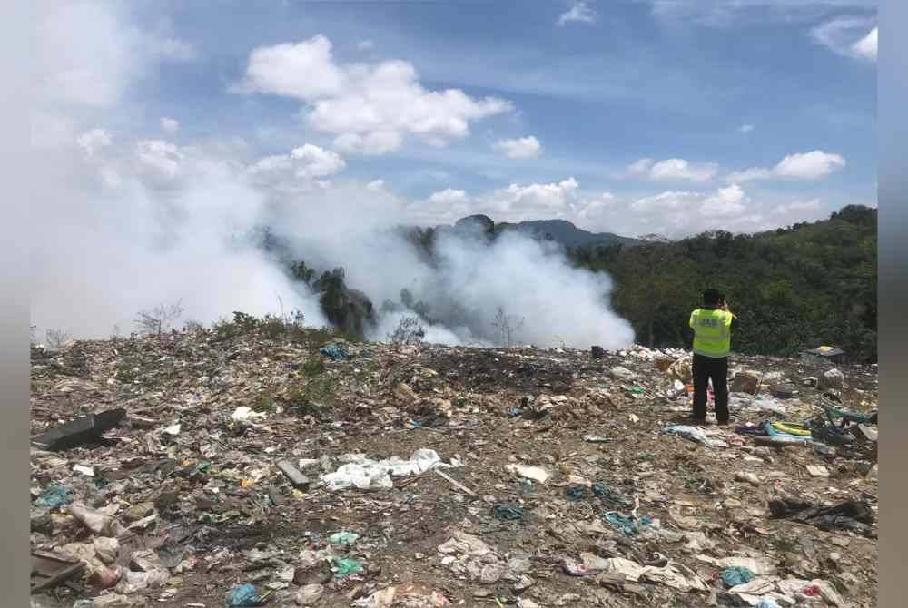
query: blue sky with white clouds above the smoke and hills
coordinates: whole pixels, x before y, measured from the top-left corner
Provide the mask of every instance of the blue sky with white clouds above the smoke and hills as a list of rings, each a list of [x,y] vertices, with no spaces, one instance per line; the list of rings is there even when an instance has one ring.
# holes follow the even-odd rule
[[[47,51],[39,78],[88,90],[47,93],[36,130],[94,132],[120,172],[118,145],[163,142],[133,161],[232,155],[271,192],[360,184],[413,221],[629,235],[876,200],[865,0],[114,3],[104,27],[73,6],[66,35],[100,51]]]

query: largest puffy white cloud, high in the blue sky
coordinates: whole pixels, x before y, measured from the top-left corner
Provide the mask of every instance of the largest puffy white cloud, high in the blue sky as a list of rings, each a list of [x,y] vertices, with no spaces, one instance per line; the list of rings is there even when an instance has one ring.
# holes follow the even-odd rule
[[[308,125],[338,135],[335,146],[348,153],[391,152],[404,135],[447,145],[469,135],[470,121],[513,109],[507,101],[474,99],[459,89],[429,91],[405,61],[336,64],[322,35],[254,49],[236,90],[306,102]]]

